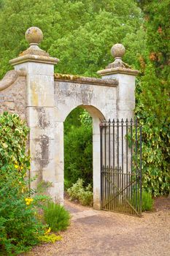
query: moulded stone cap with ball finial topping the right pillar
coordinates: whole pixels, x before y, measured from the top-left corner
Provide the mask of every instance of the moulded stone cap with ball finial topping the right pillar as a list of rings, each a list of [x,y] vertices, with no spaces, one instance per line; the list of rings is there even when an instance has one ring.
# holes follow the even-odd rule
[[[109,64],[105,69],[99,70],[98,75],[112,75],[117,73],[138,75],[139,71],[131,69],[131,66],[123,62],[122,58],[125,54],[125,47],[121,44],[115,44],[111,48],[111,54],[115,58],[111,64]]]

